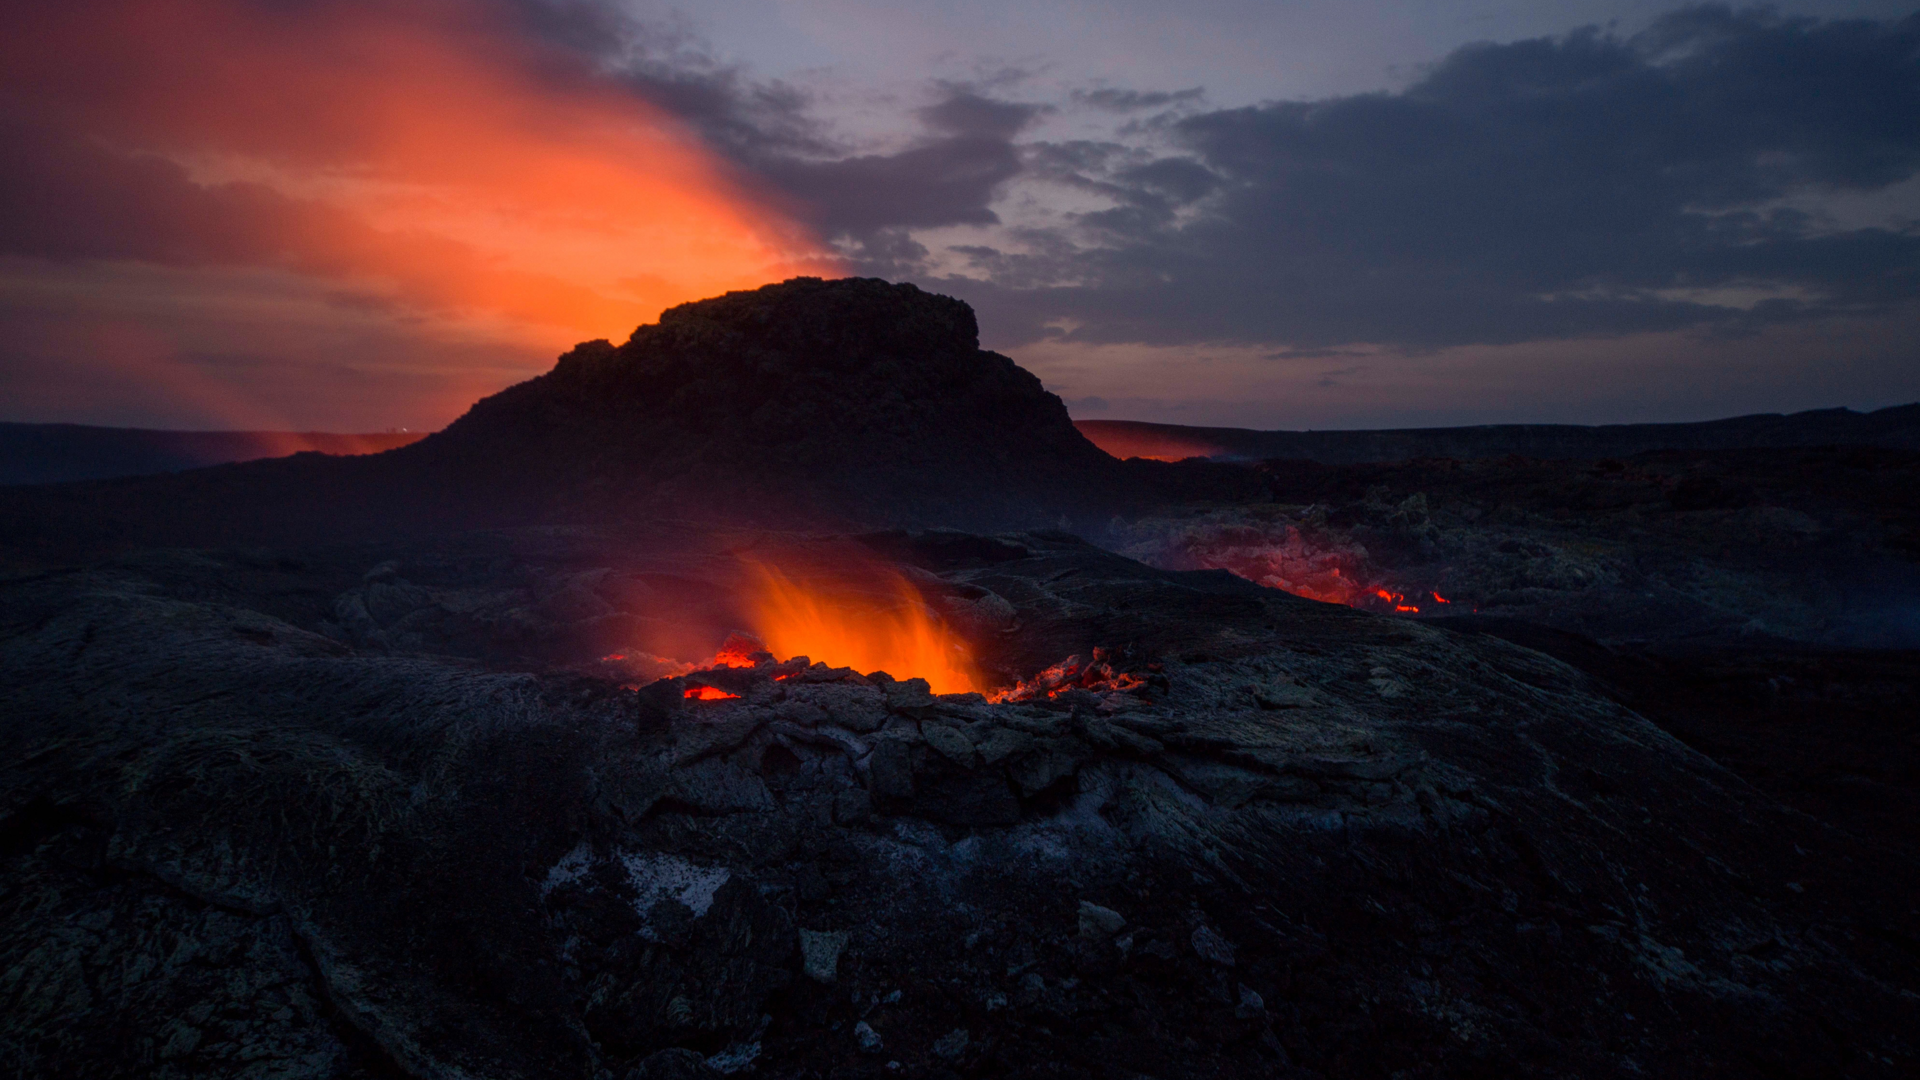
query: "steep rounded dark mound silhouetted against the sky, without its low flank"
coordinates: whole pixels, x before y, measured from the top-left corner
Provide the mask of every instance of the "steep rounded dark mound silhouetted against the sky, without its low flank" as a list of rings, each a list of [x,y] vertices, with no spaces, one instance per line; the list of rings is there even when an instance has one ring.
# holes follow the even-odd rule
[[[972,307],[877,279],[682,304],[620,348],[582,344],[478,402],[411,457],[497,461],[490,480],[543,517],[751,498],[781,513],[1020,519],[1117,475],[1060,398],[979,348]]]

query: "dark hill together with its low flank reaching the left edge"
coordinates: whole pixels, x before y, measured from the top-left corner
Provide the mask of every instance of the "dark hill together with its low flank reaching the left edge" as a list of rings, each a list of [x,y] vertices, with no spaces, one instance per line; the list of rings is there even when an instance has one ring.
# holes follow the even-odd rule
[[[1054,525],[1167,475],[1087,442],[1039,379],[979,348],[966,304],[793,279],[576,346],[386,454],[0,490],[0,544],[69,561],[643,517]]]

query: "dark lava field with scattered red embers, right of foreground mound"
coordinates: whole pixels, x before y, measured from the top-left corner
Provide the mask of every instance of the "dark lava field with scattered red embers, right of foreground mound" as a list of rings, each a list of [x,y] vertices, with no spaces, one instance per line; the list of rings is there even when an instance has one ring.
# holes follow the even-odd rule
[[[1920,853],[1920,455],[1260,469],[1271,502],[1110,542],[1542,650],[1788,805]]]

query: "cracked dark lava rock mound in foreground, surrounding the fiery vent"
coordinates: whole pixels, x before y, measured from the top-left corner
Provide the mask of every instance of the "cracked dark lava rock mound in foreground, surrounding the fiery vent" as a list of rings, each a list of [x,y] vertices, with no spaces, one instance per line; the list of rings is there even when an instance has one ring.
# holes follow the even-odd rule
[[[1914,861],[1784,807],[1620,682],[1484,625],[1064,534],[891,532],[860,544],[998,678],[1083,657],[1056,694],[772,657],[628,690],[607,642],[710,601],[714,567],[760,542],[699,536],[146,552],[0,584],[0,1061],[1920,1063]]]

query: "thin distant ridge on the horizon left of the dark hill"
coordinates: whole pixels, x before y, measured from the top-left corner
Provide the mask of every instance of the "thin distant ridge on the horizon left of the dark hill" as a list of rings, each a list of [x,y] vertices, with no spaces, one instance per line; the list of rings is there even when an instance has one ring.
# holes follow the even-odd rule
[[[152,477],[288,454],[378,454],[428,432],[154,430],[136,427],[0,423],[0,484],[60,484]]]

